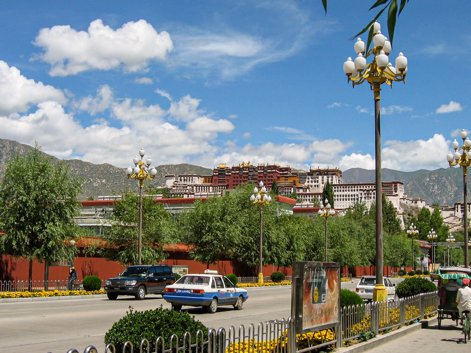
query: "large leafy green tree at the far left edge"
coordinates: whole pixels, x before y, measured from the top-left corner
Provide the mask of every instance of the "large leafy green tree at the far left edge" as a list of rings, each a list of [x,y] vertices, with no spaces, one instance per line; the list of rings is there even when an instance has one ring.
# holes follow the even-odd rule
[[[76,248],[70,246],[80,233],[73,222],[80,203],[81,180],[69,174],[62,161],[34,148],[8,161],[0,185],[0,249],[29,260],[29,281],[34,259],[49,263],[70,260]]]

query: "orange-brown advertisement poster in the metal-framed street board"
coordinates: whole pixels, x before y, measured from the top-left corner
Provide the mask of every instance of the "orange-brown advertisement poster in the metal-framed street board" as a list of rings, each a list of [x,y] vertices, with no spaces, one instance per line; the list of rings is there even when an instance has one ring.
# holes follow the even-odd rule
[[[306,262],[303,273],[302,329],[338,322],[339,267]]]

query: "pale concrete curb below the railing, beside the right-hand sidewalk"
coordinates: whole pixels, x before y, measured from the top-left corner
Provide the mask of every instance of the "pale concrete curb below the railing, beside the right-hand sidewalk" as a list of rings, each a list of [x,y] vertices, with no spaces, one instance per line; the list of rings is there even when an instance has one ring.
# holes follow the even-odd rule
[[[356,345],[351,345],[349,347],[341,348],[335,351],[335,353],[363,353],[363,352],[369,351],[370,349],[373,349],[381,345],[384,345],[386,343],[389,343],[391,341],[394,341],[395,339],[398,339],[400,337],[406,336],[409,333],[413,333],[414,331],[418,331],[422,328],[426,328],[429,325],[434,324],[436,322],[437,322],[437,317],[422,320],[420,322],[414,323],[413,325],[401,327],[400,329],[397,329],[385,335],[379,335],[373,339],[370,339],[369,341],[357,343]]]

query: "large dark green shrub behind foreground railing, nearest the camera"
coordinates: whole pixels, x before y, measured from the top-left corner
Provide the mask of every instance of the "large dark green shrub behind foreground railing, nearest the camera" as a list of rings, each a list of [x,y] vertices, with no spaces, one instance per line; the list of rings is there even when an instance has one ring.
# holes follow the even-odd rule
[[[192,344],[196,342],[198,330],[203,331],[203,339],[208,336],[208,328],[187,312],[163,309],[162,305],[157,309],[146,311],[133,311],[132,307],[129,309],[130,311],[116,321],[105,334],[105,345],[113,343],[116,352],[122,352],[122,346],[126,341],[131,341],[137,351],[144,338],[149,340],[152,350],[159,336],[165,340],[165,349],[170,348],[170,337],[174,333],[183,339],[185,332],[190,332]]]

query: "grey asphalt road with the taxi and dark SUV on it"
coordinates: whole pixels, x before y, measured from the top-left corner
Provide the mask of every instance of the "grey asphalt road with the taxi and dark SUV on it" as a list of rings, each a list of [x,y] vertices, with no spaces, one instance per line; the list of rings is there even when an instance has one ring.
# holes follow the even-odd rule
[[[402,279],[391,279],[398,283]],[[341,288],[355,290],[358,280],[342,282]],[[207,327],[218,329],[231,325],[238,328],[268,320],[288,318],[291,308],[291,286],[249,288],[249,299],[240,311],[232,306],[221,306],[214,314],[202,308],[184,307],[183,310]],[[94,345],[103,352],[106,331],[126,314],[129,306],[135,310],[154,309],[160,305],[171,306],[156,295],[145,300],[133,297],[73,299],[49,302],[0,304],[0,353],[66,352],[76,348],[83,352]],[[471,347],[471,346],[470,346]]]

